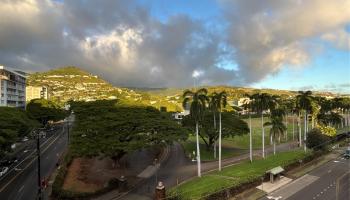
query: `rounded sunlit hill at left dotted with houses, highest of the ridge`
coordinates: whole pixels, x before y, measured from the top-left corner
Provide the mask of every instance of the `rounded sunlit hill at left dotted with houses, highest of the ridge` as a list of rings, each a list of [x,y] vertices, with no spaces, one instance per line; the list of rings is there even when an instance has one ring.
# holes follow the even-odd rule
[[[31,74],[27,79],[27,85],[48,86],[50,98],[59,102],[114,99],[136,94],[128,89],[113,87],[96,75],[77,67],[62,67]]]

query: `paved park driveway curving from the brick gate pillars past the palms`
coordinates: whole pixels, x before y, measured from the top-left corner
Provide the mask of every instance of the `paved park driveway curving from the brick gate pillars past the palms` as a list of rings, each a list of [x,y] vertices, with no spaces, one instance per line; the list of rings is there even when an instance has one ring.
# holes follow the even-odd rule
[[[276,151],[278,152],[287,151],[290,149],[290,143],[284,143],[276,146]],[[267,154],[271,154],[273,152],[273,148],[266,148],[265,152]],[[254,155],[261,155],[261,150],[255,150]],[[170,159],[167,159],[164,163],[162,163],[156,174],[146,180],[143,180],[135,187],[135,189],[130,191],[130,193],[119,199],[151,199],[158,181],[162,181],[166,188],[170,188],[178,183],[197,176],[197,162],[192,162],[190,159],[188,159],[188,157],[186,157],[184,149],[179,143],[175,143],[171,146],[168,158]],[[222,166],[229,166],[248,158],[249,153],[224,159],[222,160]],[[217,170],[218,162],[202,162],[201,167],[202,173]]]

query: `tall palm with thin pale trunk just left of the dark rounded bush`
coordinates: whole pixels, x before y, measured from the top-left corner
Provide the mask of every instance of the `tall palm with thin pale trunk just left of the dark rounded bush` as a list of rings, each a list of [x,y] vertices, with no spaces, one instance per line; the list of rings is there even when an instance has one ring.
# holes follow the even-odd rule
[[[304,112],[304,150],[306,152],[306,134],[308,131],[307,128],[307,116],[309,111],[311,110],[311,101],[312,101],[312,92],[311,91],[299,91],[297,95],[297,105],[300,111]]]

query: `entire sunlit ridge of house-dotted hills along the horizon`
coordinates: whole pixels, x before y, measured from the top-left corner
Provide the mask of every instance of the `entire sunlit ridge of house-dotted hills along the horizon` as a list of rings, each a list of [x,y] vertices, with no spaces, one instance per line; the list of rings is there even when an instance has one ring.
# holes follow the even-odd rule
[[[50,99],[61,103],[69,100],[94,101],[119,99],[125,104],[166,107],[168,111],[182,111],[182,93],[186,88],[120,88],[77,67],[61,67],[28,77],[28,86],[48,86]],[[203,86],[205,87],[205,86]],[[209,93],[226,91],[228,100],[238,100],[245,94],[266,92],[280,96],[294,96],[295,91],[254,89],[233,86],[208,86]],[[189,88],[193,89],[193,88]],[[330,96],[331,93],[324,95]]]

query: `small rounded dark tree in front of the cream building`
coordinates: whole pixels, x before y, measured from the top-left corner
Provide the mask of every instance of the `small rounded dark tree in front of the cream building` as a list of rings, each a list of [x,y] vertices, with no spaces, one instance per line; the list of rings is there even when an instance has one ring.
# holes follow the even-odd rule
[[[27,113],[43,125],[48,121],[59,121],[67,116],[67,112],[57,104],[46,99],[33,99],[26,107]]]

